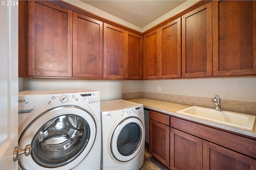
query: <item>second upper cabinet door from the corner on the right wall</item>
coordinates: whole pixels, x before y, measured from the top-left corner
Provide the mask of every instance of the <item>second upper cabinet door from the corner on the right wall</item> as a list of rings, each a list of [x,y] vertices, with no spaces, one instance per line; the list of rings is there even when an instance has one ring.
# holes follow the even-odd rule
[[[181,72],[181,19],[178,18],[159,30],[160,78],[180,77]]]

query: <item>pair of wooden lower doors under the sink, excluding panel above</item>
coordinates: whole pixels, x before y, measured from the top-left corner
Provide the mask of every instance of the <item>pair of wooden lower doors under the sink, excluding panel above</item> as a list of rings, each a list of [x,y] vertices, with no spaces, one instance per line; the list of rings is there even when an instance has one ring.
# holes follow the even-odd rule
[[[172,170],[255,170],[256,160],[170,128]]]

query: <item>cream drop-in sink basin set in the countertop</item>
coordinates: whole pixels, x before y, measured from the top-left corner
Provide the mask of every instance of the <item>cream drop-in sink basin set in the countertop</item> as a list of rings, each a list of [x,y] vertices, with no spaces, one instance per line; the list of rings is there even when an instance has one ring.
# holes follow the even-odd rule
[[[255,115],[230,111],[216,111],[215,109],[198,106],[188,107],[178,111],[177,113],[248,130],[254,129],[256,118]]]

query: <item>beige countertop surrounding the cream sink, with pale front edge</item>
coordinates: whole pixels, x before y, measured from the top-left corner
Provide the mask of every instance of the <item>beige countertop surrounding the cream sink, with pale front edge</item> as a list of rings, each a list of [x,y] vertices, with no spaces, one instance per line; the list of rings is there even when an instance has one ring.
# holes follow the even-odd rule
[[[128,101],[132,101],[132,102],[135,102],[135,103],[140,103],[140,104],[144,105],[144,108],[152,109],[154,111],[159,111],[159,112],[162,112],[162,113],[166,113],[168,115],[180,117],[180,118],[183,118],[183,119],[187,119],[187,120],[190,120],[190,121],[202,123],[202,124],[205,124],[205,125],[210,125],[212,127],[217,127],[217,128],[222,128],[222,129],[225,129],[225,130],[230,130],[232,132],[245,134],[247,136],[256,137],[256,124],[254,125],[254,130],[245,130],[245,129],[242,129],[242,128],[226,126],[226,125],[222,125],[220,123],[215,123],[215,122],[212,122],[212,121],[206,121],[204,119],[198,119],[198,118],[195,118],[195,117],[190,117],[190,116],[187,116],[187,115],[182,115],[182,114],[177,113],[177,111],[182,110],[182,109],[186,109],[186,108],[190,107],[191,105],[184,105],[184,104],[179,104],[179,103],[172,103],[172,102],[167,102],[167,101],[159,101],[159,100],[146,99],[146,98],[129,99]]]

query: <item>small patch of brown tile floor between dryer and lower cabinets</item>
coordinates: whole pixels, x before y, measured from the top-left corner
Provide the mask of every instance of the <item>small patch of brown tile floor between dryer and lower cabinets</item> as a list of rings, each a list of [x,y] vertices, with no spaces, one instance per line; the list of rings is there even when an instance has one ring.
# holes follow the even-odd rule
[[[139,170],[168,170],[149,153],[147,142],[145,142],[144,164]]]

